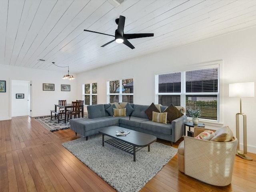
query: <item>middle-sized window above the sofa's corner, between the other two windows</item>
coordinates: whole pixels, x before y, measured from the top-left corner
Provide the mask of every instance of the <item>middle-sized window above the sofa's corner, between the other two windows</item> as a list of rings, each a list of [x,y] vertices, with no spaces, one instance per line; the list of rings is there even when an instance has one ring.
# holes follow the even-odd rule
[[[120,85],[122,86],[120,88]],[[107,100],[110,103],[133,103],[133,78],[107,82]]]

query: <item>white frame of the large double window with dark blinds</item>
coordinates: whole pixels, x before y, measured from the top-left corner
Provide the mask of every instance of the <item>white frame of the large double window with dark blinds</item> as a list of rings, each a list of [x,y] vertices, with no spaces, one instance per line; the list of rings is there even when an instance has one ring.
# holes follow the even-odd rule
[[[192,93],[186,93],[186,71],[193,71],[193,70],[202,70],[202,69],[208,69],[208,68],[218,68],[218,92],[192,92]],[[223,64],[222,60],[216,61],[216,62],[207,62],[207,63],[201,63],[201,64],[193,64],[190,66],[184,67],[182,70],[173,70],[168,72],[159,72],[155,74],[155,103],[158,104],[158,96],[159,95],[180,95],[180,105],[186,108],[186,96],[188,95],[217,95],[217,120],[212,119],[206,119],[206,118],[199,118],[202,122],[208,122],[208,123],[215,123],[223,124],[223,93],[222,93],[222,87],[223,87],[223,77],[222,77],[222,71],[223,71]],[[186,69],[186,70],[184,70]],[[170,73],[177,73],[181,72],[181,92],[180,93],[158,93],[158,76],[162,74],[170,74]],[[186,114],[186,111],[185,111]],[[188,117],[188,120],[192,120],[191,117]]]

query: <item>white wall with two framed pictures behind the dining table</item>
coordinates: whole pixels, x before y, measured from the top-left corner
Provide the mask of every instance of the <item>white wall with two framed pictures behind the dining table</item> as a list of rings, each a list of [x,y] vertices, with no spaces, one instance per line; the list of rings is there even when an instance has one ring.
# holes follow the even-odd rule
[[[81,95],[76,95],[76,79],[62,79],[65,72],[37,70],[7,65],[0,65],[0,69],[0,80],[6,81],[6,92],[0,93],[0,120],[11,119],[12,116],[11,80],[32,81],[32,117],[50,115],[50,110],[54,110],[54,104],[58,104],[58,100],[66,99],[68,103],[71,103],[76,99],[82,98]],[[76,77],[76,74],[74,74],[74,76]],[[55,90],[43,91],[43,83],[54,84]],[[70,91],[61,91],[61,84],[70,84]]]

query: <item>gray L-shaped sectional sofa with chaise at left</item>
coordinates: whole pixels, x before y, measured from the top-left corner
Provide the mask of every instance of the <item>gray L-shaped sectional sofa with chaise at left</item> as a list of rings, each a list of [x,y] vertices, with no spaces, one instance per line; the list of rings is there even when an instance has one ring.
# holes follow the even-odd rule
[[[88,136],[98,134],[98,130],[109,126],[120,126],[151,134],[157,138],[176,142],[184,135],[184,115],[170,123],[162,124],[150,121],[145,113],[148,105],[130,104],[133,108],[130,116],[110,116],[110,104],[97,104],[87,106],[88,118],[76,118],[70,120],[70,129],[88,139]],[[166,107],[161,106],[161,112]],[[126,110],[127,111],[127,110]],[[127,112],[126,112],[127,114]]]

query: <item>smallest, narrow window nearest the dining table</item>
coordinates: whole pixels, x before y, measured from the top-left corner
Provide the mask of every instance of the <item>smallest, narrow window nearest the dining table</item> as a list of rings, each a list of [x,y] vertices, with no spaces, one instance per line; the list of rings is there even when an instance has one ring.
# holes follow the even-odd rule
[[[95,105],[97,104],[97,83],[84,84],[84,104]]]

